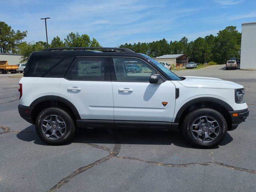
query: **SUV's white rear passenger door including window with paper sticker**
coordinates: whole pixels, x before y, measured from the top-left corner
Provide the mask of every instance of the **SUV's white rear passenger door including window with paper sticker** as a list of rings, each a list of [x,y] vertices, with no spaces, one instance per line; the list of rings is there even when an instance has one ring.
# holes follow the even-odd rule
[[[109,57],[77,57],[60,83],[84,120],[114,120]]]

